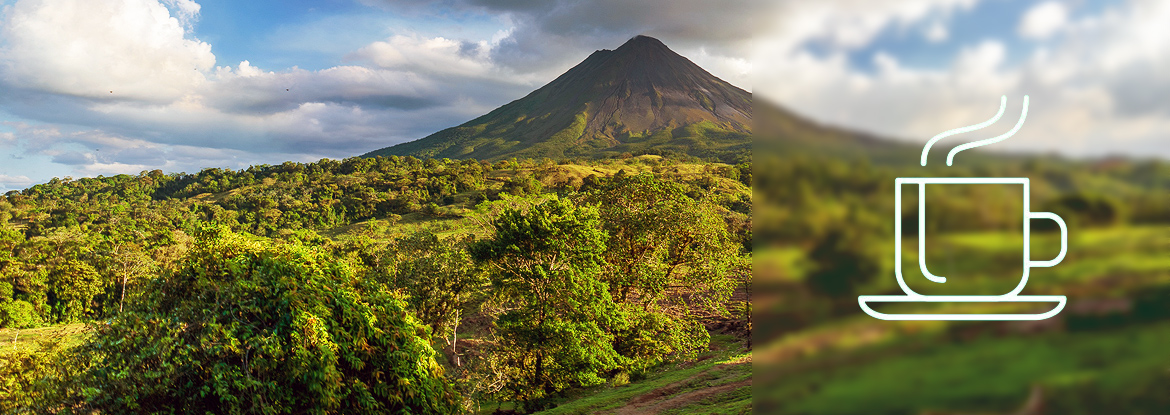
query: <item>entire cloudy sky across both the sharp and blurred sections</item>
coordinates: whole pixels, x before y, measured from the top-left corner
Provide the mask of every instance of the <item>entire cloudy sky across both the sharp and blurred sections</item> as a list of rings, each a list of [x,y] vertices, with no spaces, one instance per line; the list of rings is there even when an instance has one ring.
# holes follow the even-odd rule
[[[924,143],[1007,96],[998,134],[1028,95],[989,148],[1170,158],[1166,21],[1148,0],[0,0],[0,192],[352,157],[639,34],[823,123]]]

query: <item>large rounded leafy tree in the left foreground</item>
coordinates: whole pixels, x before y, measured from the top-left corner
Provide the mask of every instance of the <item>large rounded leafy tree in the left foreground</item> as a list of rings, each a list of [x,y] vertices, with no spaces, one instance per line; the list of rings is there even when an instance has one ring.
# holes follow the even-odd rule
[[[404,299],[316,250],[209,228],[146,292],[80,346],[96,360],[70,404],[103,414],[456,408]]]

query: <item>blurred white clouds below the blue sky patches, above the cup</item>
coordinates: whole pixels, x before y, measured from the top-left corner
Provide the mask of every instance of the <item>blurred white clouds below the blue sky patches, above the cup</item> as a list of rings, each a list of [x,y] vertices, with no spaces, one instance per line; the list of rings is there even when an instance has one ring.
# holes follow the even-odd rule
[[[913,2],[913,1],[911,1]],[[840,5],[835,5],[840,6]],[[885,28],[902,25],[887,7]],[[789,7],[782,21],[824,21],[824,2]],[[956,19],[962,19],[957,16]],[[840,19],[840,18],[833,18]],[[921,23],[934,19],[922,14]],[[875,70],[854,67],[847,53],[868,43],[833,43],[826,29],[778,29],[762,39],[757,97],[814,119],[924,143],[930,136],[994,115],[999,96],[1009,108],[986,134],[1007,131],[1031,96],[1023,130],[989,150],[1057,151],[1071,155],[1130,154],[1170,158],[1170,2],[1135,0],[1096,15],[1067,20],[1044,44],[1011,39],[959,43],[943,67],[916,67],[875,51]],[[799,26],[799,25],[797,25]],[[819,30],[819,32],[818,32]],[[815,33],[815,36],[810,35]],[[1039,33],[1039,32],[1038,32]],[[784,37],[786,35],[797,37]],[[812,37],[810,37],[812,36]],[[818,37],[819,36],[819,37]],[[810,39],[819,40],[813,53]],[[952,40],[954,42],[955,40]],[[828,42],[828,43],[826,43]],[[970,41],[968,41],[970,42]],[[1020,48],[1031,48],[1021,53]],[[1026,51],[1027,49],[1025,49]],[[1010,56],[1025,58],[1010,58]],[[944,55],[945,56],[945,55]],[[973,133],[982,138],[983,134]],[[955,138],[952,141],[962,141]],[[948,139],[951,140],[951,139]],[[944,143],[945,145],[945,143]]]

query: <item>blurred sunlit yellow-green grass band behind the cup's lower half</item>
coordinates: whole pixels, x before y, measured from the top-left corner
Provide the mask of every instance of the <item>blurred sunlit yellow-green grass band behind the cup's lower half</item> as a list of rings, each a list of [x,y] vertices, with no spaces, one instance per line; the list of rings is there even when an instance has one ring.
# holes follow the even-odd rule
[[[1145,288],[1170,284],[1170,256],[1164,227],[1116,227],[1083,229],[1071,237],[1068,254],[1054,268],[1034,268],[1024,289],[1025,295],[1067,295],[1072,302],[1096,298],[1128,298]],[[1034,247],[1058,244],[1057,235],[1040,235]],[[1004,238],[996,233],[969,233],[941,235],[931,240],[930,249],[962,251],[950,263],[930,262],[930,268],[948,277],[947,284],[925,281],[918,271],[917,242],[903,240],[903,276],[911,289],[921,293],[951,295],[1000,295],[1019,283],[1023,274],[1020,247],[1005,247]],[[886,245],[893,249],[893,243]],[[913,247],[907,249],[906,247]],[[874,320],[848,306],[855,314],[849,317],[828,313],[825,299],[813,297],[804,289],[804,276],[808,262],[804,260],[801,247],[770,247],[755,255],[757,277],[753,298],[756,310],[780,316],[759,321],[757,327],[771,327],[766,336],[778,336],[777,341],[757,345],[757,358],[789,359],[814,351],[832,351],[844,344],[867,346],[890,339],[902,333],[914,333],[916,326]],[[1016,251],[1012,261],[996,261],[999,253]],[[1034,250],[1038,258],[1047,258],[1047,253]],[[1054,256],[1054,254],[1053,254]],[[901,293],[894,278],[893,255],[883,255],[886,274],[858,289],[860,295]],[[991,260],[978,260],[991,258]],[[948,265],[950,268],[948,268]],[[954,272],[954,274],[951,274]],[[882,312],[1017,312],[1003,307],[1037,309],[1040,305],[1019,304],[894,304]],[[999,307],[999,309],[997,309]],[[913,311],[911,311],[913,310]],[[875,324],[879,323],[879,324]],[[768,330],[765,330],[765,333]],[[852,339],[852,340],[851,340]],[[852,347],[852,346],[851,346]],[[817,352],[820,353],[820,352]]]

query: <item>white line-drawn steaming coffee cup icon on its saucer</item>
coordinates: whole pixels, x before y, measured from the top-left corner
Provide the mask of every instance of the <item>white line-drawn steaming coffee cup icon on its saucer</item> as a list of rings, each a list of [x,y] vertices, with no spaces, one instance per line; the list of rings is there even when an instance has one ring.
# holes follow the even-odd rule
[[[922,150],[922,165],[927,164],[927,152],[930,151],[930,145],[932,145],[938,139],[957,134],[968,131],[975,131],[984,126],[991,125],[1003,116],[1004,109],[1006,108],[1007,97],[1000,98],[999,113],[987,122],[947,131],[938,136],[935,136],[927,143]],[[1007,137],[1011,137],[1020,129],[1024,124],[1024,119],[1027,116],[1027,104],[1028,97],[1024,97],[1024,110],[1020,115],[1019,122],[1016,127],[1004,133],[1003,136],[969,143],[955,147],[948,155],[947,165],[951,165],[956,153],[968,148],[975,148],[978,146],[998,143]],[[904,296],[859,296],[858,304],[861,305],[861,310],[865,311],[873,318],[882,320],[1042,320],[1052,316],[1060,313],[1065,309],[1067,298],[1065,296],[1021,296],[1020,291],[1024,290],[1024,285],[1027,284],[1028,274],[1032,268],[1041,267],[1053,267],[1060,263],[1065,258],[1065,254],[1068,250],[1068,227],[1065,221],[1057,214],[1048,212],[1031,212],[1030,210],[1030,181],[1027,178],[897,178],[895,182],[895,202],[894,202],[894,269],[895,277],[897,278],[897,285],[906,293]],[[902,186],[903,185],[918,185],[918,268],[922,275],[927,279],[945,284],[947,278],[942,276],[936,276],[927,269],[927,257],[925,253],[925,221],[927,221],[927,203],[925,203],[925,188],[927,185],[987,185],[987,184],[1004,184],[1004,185],[1023,185],[1024,188],[1024,202],[1023,202],[1023,223],[1024,223],[1024,267],[1023,276],[1020,277],[1019,284],[1011,291],[1000,296],[928,296],[915,292],[907,285],[906,279],[902,277]],[[1035,220],[1051,220],[1057,222],[1060,227],[1060,254],[1055,258],[1048,261],[1032,261],[1030,253],[1031,242],[1031,221]],[[883,313],[878,312],[870,304],[882,304],[882,303],[1047,303],[1053,306],[1048,311],[1038,313]]]

